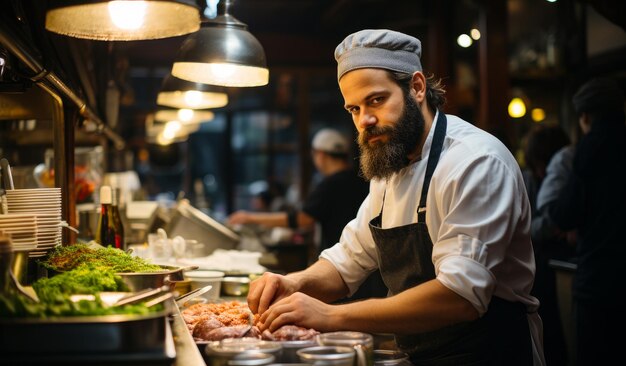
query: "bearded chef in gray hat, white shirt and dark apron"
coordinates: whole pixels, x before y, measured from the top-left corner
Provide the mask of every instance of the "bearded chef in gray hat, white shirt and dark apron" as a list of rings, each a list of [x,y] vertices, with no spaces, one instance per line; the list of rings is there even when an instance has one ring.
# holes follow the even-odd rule
[[[369,195],[318,262],[264,274],[248,304],[270,331],[393,333],[416,365],[543,365],[521,171],[497,138],[443,113],[420,55],[418,39],[390,30],[337,46]],[[330,304],[376,269],[388,297]]]

